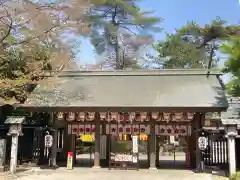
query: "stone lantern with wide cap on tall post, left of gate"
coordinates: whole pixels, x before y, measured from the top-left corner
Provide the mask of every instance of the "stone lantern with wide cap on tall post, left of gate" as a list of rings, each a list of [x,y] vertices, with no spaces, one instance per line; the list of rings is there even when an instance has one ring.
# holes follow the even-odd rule
[[[17,168],[18,136],[22,136],[22,123],[25,116],[8,116],[5,124],[9,125],[8,135],[12,136],[10,172],[14,174]]]

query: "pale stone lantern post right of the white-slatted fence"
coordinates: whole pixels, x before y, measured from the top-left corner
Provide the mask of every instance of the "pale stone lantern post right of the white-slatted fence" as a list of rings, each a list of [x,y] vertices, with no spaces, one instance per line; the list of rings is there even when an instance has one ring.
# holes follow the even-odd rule
[[[236,173],[235,137],[237,136],[237,126],[226,127],[226,136],[228,141],[229,176],[231,176]]]

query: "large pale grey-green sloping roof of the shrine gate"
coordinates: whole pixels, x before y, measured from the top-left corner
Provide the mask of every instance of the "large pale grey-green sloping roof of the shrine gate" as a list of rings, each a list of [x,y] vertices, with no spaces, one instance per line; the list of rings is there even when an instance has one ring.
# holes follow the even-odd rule
[[[228,103],[217,75],[207,77],[200,70],[65,72],[55,82],[48,78],[49,83],[40,83],[25,107],[226,109]]]

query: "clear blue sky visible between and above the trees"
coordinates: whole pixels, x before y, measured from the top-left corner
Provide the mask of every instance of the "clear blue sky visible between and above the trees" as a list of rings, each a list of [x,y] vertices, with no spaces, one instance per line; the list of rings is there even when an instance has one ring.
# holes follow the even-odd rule
[[[139,5],[142,10],[153,10],[155,16],[164,19],[159,24],[163,32],[154,34],[156,40],[164,39],[165,32],[173,33],[189,20],[204,25],[219,16],[229,24],[240,23],[239,0],[142,0]],[[96,62],[95,58],[91,43],[82,38],[78,63],[92,64]]]

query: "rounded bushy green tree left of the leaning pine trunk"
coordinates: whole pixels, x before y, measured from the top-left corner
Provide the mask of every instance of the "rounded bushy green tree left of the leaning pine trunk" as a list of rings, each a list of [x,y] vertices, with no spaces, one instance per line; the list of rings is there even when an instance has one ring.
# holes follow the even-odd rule
[[[178,34],[167,34],[165,41],[154,46],[158,55],[158,64],[163,68],[203,68],[207,55],[204,49],[198,49],[191,39],[186,41]]]

